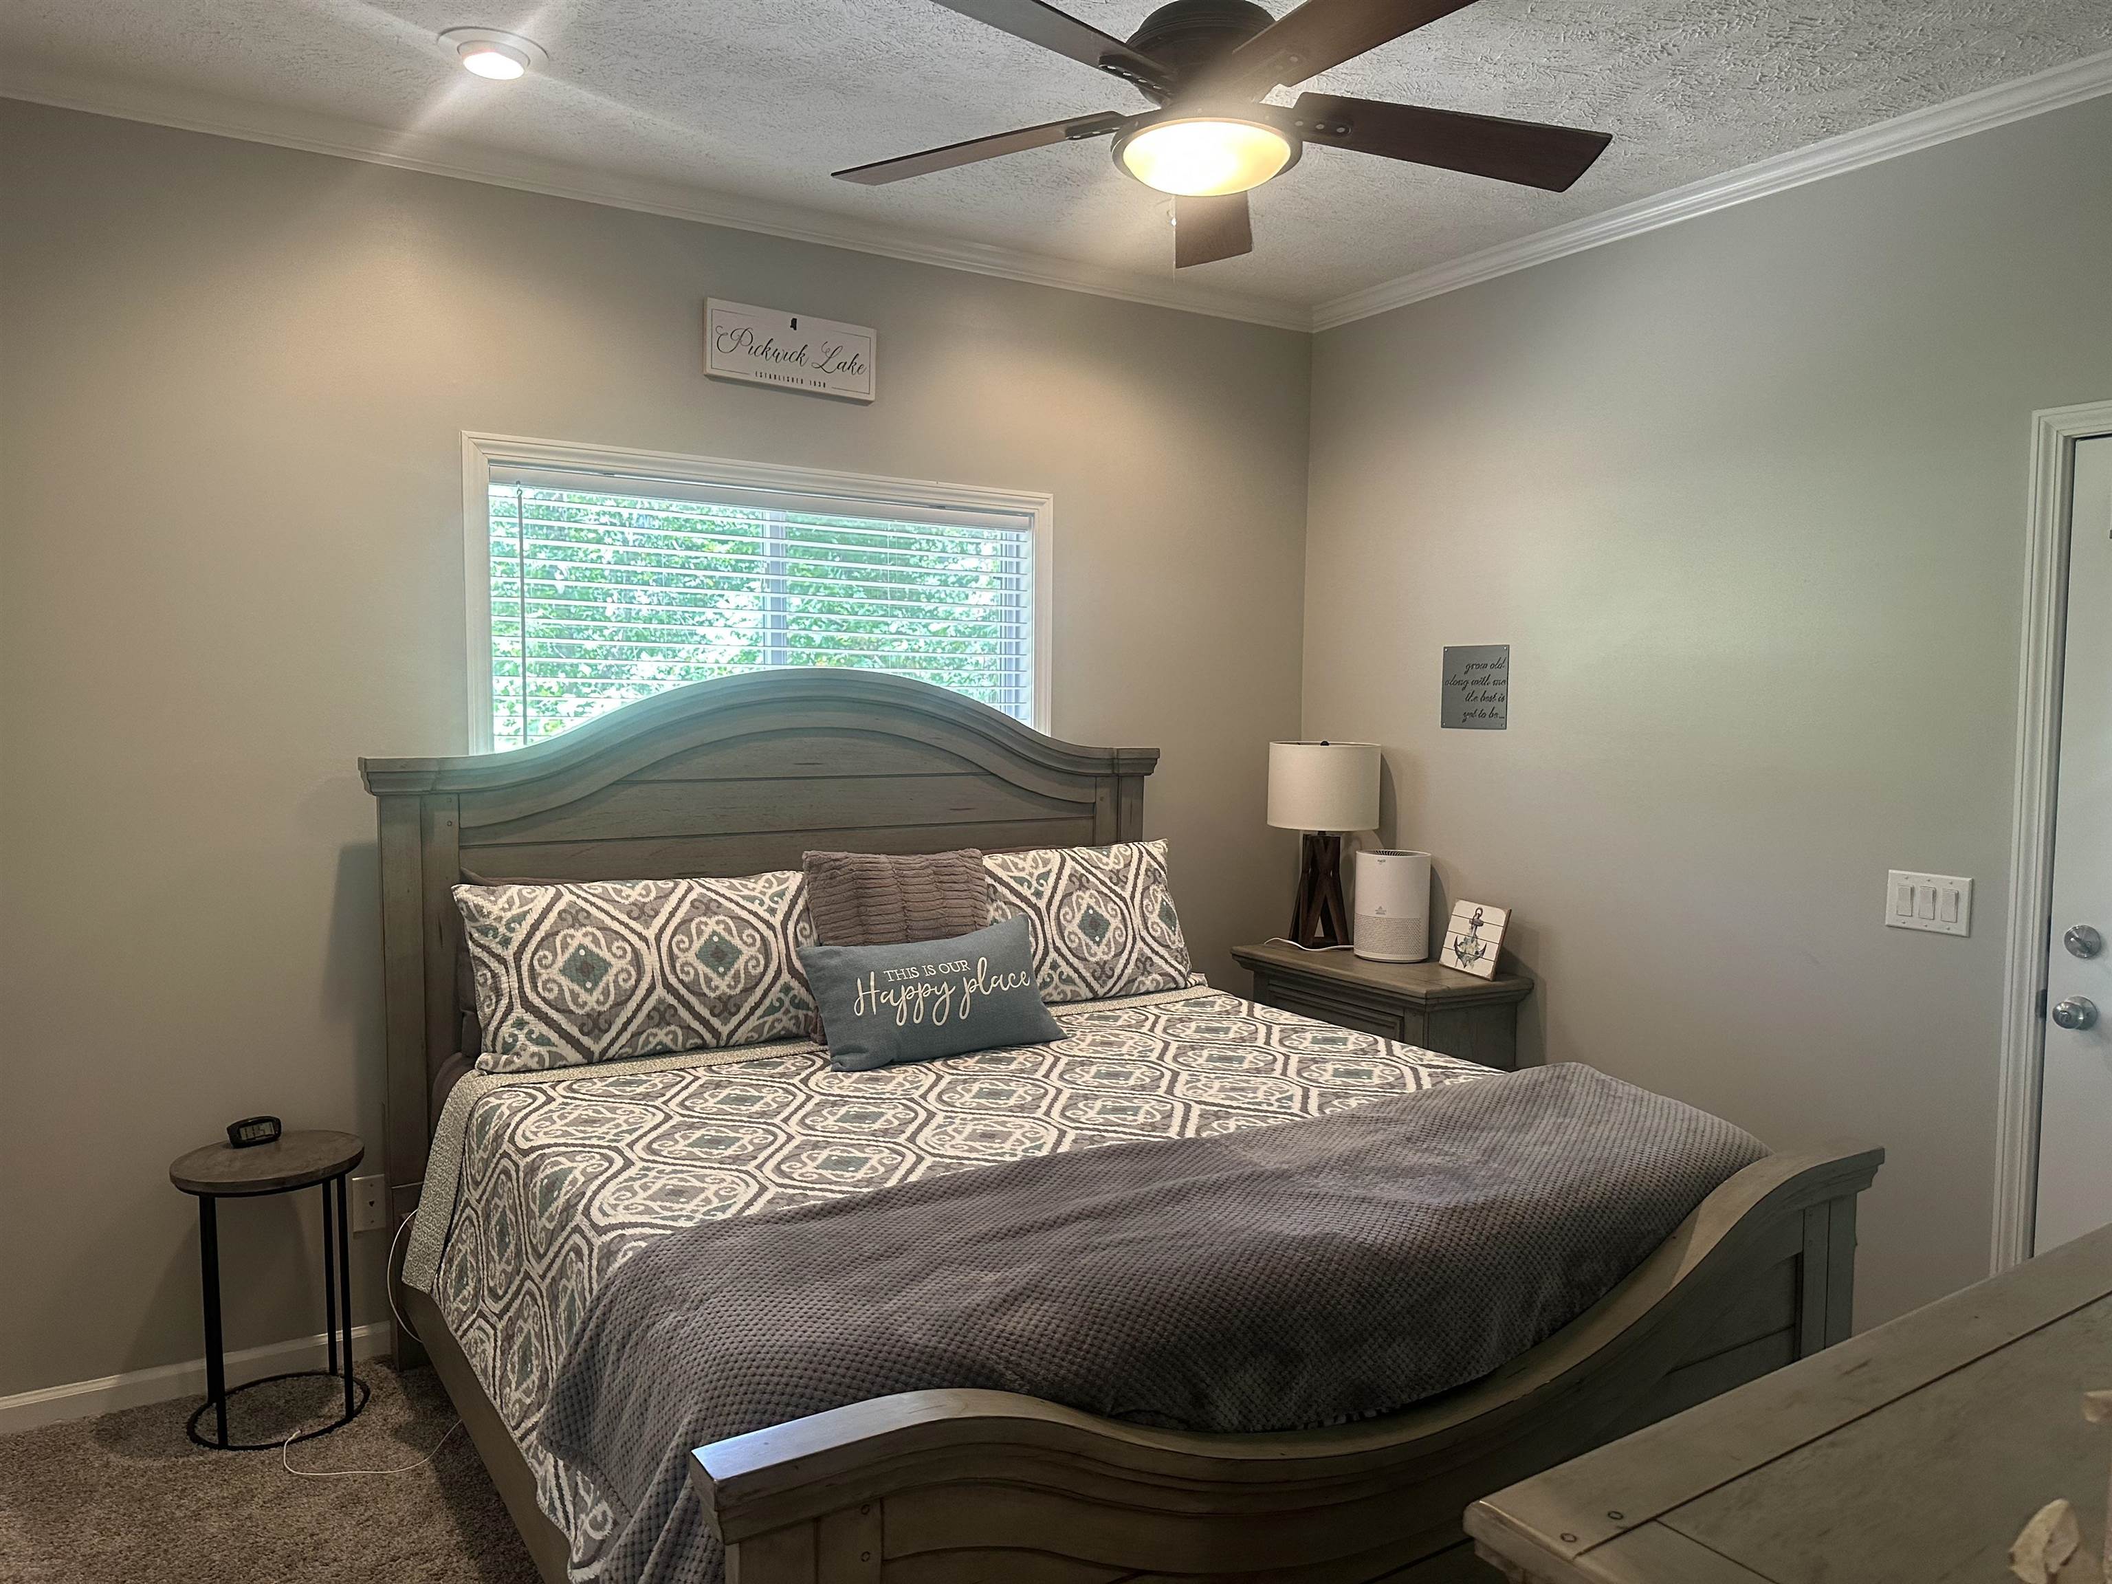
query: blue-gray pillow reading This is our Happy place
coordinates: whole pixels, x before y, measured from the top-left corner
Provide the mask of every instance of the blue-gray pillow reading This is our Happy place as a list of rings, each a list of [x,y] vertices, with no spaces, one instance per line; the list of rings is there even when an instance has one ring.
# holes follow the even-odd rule
[[[1062,1039],[1035,988],[1026,919],[953,940],[800,946],[798,957],[830,1064],[845,1073]]]

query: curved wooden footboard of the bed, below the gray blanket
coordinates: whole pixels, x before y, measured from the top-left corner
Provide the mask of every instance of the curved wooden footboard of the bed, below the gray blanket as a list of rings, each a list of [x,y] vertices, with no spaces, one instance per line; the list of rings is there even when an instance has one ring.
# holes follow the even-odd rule
[[[904,1392],[699,1447],[691,1478],[731,1584],[1495,1578],[1470,1502],[1848,1335],[1882,1159],[1745,1168],[1576,1322],[1383,1419],[1208,1436]]]

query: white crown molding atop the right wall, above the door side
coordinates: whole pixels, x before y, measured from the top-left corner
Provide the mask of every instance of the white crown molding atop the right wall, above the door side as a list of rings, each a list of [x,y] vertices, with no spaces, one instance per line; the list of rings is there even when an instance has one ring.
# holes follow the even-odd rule
[[[1658,230],[1660,226],[1696,220],[1698,215],[1730,209],[1738,203],[1787,192],[1806,182],[1823,182],[1829,175],[1844,175],[1878,161],[1913,154],[1935,144],[1947,144],[1954,137],[1970,137],[1973,133],[2006,127],[2025,116],[2063,110],[2066,106],[2095,99],[2101,93],[2112,93],[2112,51],[2087,55],[2080,61],[2055,65],[1994,89],[1981,89],[1962,99],[1911,110],[1905,116],[1880,120],[1873,127],[1842,133],[1840,137],[1827,137],[1825,142],[1764,158],[1726,175],[1711,175],[1702,182],[1660,192],[1654,199],[1639,199],[1620,209],[1607,209],[1567,226],[1554,226],[1552,230],[1521,237],[1481,253],[1468,253],[1447,264],[1432,264],[1426,270],[1381,281],[1362,291],[1331,298],[1314,306],[1312,327],[1320,332],[1371,319],[1390,308],[1457,291],[1464,285],[1493,281],[1500,275],[1527,270],[1533,264],[1548,264],[1550,260],[1582,253],[1590,247],[1641,237],[1645,230]]]

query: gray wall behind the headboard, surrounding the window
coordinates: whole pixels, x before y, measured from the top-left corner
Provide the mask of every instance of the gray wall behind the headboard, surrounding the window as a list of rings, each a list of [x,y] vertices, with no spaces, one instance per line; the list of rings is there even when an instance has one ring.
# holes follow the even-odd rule
[[[1305,336],[8,101],[0,194],[0,1394],[199,1354],[180,1151],[380,1136],[355,760],[465,743],[463,429],[1050,490],[1056,731],[1164,750],[1212,976],[1278,925]],[[881,401],[708,382],[708,294]],[[319,1328],[315,1214],[224,1214],[232,1347]]]

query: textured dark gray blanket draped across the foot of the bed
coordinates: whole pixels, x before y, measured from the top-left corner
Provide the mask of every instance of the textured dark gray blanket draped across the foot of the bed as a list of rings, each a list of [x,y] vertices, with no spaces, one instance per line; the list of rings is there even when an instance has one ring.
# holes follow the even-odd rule
[[[1183,1430],[1388,1413],[1559,1331],[1761,1155],[1565,1064],[708,1221],[602,1286],[543,1438],[615,1512],[593,1578],[708,1584],[693,1447],[944,1385]]]

